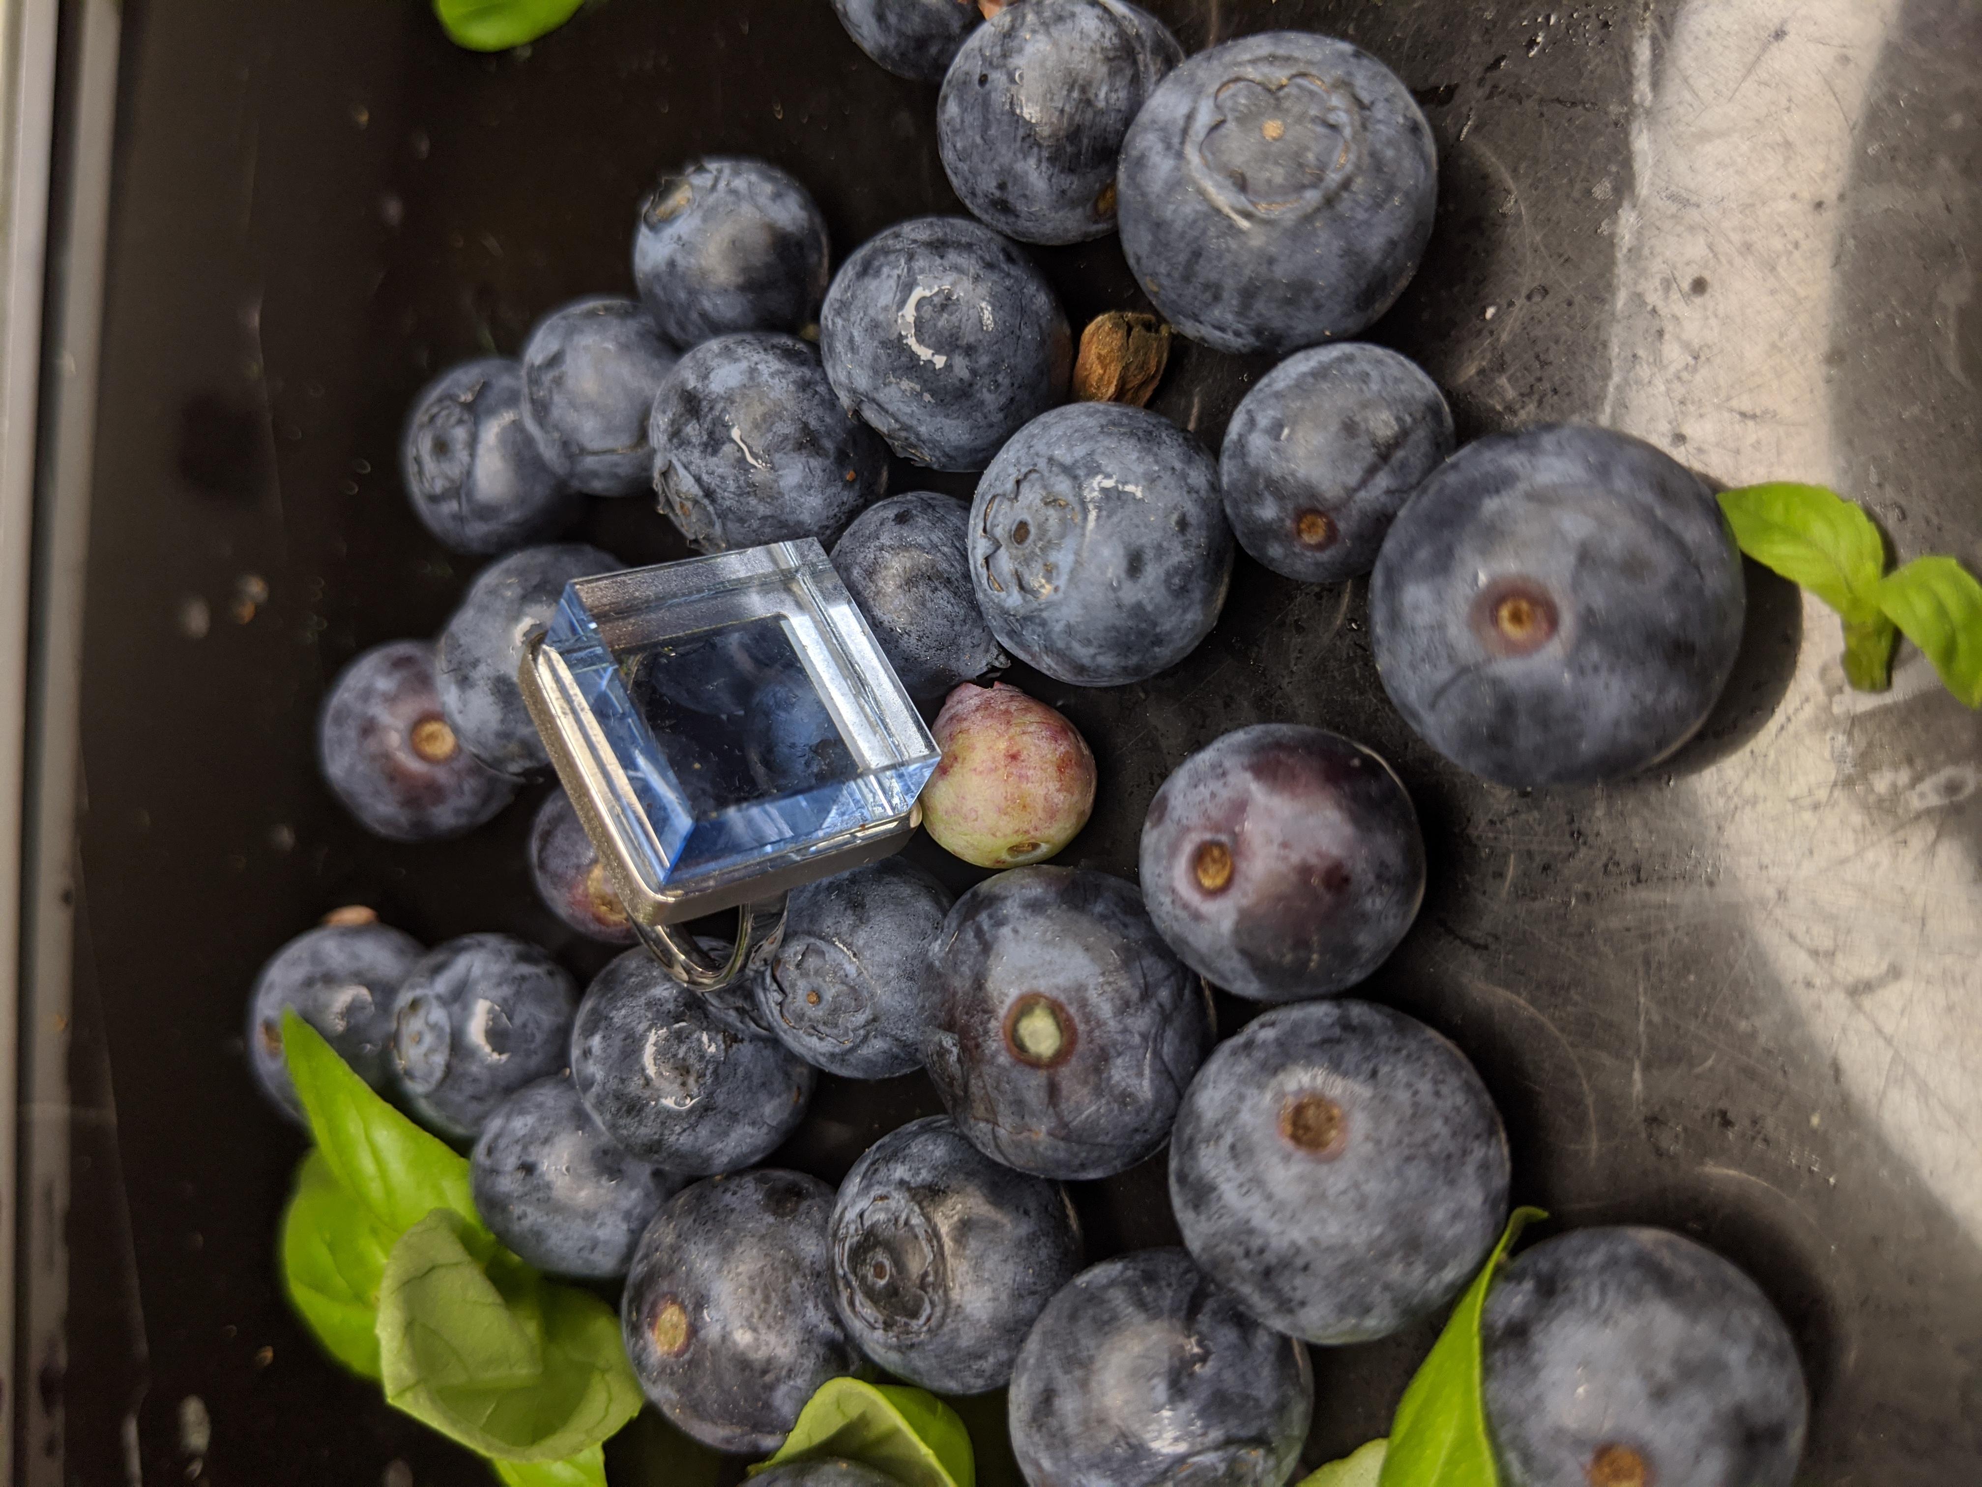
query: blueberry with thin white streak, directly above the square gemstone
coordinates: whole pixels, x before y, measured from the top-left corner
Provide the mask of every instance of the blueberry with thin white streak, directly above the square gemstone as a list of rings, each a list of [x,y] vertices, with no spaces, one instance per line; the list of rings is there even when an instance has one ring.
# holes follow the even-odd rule
[[[888,450],[795,335],[723,335],[682,357],[648,424],[660,510],[704,553],[832,543],[888,490]]]

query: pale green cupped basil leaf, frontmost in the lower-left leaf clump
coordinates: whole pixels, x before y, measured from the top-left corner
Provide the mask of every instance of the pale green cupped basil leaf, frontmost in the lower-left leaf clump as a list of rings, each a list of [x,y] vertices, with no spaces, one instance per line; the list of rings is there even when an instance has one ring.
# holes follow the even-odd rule
[[[379,1362],[390,1404],[507,1461],[563,1461],[640,1410],[618,1316],[551,1285],[434,1209],[392,1245],[379,1287]]]

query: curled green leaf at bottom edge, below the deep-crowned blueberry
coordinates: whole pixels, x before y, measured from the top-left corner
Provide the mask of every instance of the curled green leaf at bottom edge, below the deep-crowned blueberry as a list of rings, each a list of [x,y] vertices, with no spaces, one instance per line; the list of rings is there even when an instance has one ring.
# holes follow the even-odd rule
[[[805,1402],[777,1455],[753,1465],[751,1475],[823,1455],[860,1461],[902,1487],[977,1487],[971,1437],[957,1412],[904,1384],[828,1378]]]

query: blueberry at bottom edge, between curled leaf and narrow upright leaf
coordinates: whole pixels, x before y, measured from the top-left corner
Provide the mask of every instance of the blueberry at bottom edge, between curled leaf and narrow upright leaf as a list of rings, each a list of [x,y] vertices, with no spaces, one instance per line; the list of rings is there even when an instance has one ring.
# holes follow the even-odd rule
[[[1312,1412],[1306,1348],[1181,1249],[1082,1271],[1039,1315],[1009,1400],[1033,1487],[1280,1487]]]

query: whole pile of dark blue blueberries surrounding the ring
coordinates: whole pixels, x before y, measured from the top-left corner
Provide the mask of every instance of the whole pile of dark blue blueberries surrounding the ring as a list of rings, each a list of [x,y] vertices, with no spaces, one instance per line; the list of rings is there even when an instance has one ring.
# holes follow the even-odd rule
[[[941,83],[941,159],[975,220],[902,222],[828,276],[797,180],[708,159],[642,206],[638,299],[557,309],[517,361],[420,393],[414,510],[450,547],[505,555],[436,642],[337,678],[321,763],[369,829],[468,831],[545,769],[523,638],[565,583],[616,567],[555,537],[585,494],[648,486],[702,551],[828,543],[920,700],[1007,652],[1068,684],[1156,676],[1217,623],[1239,545],[1308,583],[1372,575],[1389,696],[1486,779],[1617,779],[1699,728],[1742,627],[1703,482],[1599,428],[1455,452],[1431,379],[1344,339],[1403,291],[1435,208],[1429,127],[1379,61],[1296,32],[1183,59],[1126,0],[1021,0],[983,24],[959,0],[834,6],[884,67]],[[1284,355],[1217,458],[1146,408],[1066,402],[1072,335],[1017,244],[1108,232],[1183,335]],[[890,450],[981,472],[975,498],[886,498]],[[632,944],[563,793],[531,868],[567,924]],[[624,1277],[642,1386],[717,1449],[775,1449],[821,1382],[878,1366],[1009,1388],[1033,1483],[1278,1487],[1308,1431],[1306,1346],[1391,1334],[1459,1293],[1506,1219],[1506,1136],[1459,1049],[1342,995],[1425,882],[1376,753],[1318,728],[1227,734],[1156,793],[1140,880],[1025,866],[951,900],[886,860],[795,892],[775,956],[708,995],[642,950],[581,997],[515,938],[424,952],[347,914],[264,968],[250,1051],[295,1114],[293,1007],[472,1142],[488,1225],[545,1271]],[[1215,1043],[1207,983],[1272,1005]],[[755,1166],[819,1071],[914,1069],[947,1114],[884,1136],[838,1192]],[[1082,1269],[1060,1184],[1165,1146],[1183,1247]],[[1536,1245],[1483,1336],[1512,1487],[1794,1475],[1790,1334],[1685,1237]],[[880,1481],[781,1473],[765,1481]]]

